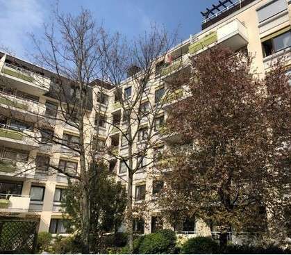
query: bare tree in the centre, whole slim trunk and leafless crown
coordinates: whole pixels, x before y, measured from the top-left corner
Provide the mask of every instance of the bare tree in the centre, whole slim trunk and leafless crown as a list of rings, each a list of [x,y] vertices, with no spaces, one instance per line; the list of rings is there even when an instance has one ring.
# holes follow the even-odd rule
[[[176,33],[170,35],[155,24],[132,43],[118,34],[114,38],[103,38],[104,72],[116,87],[114,107],[119,109],[108,122],[111,133],[115,135],[110,137],[111,145],[107,150],[119,161],[120,169],[127,173],[127,177],[121,178],[127,182],[129,252],[133,252],[133,176],[153,165],[152,150],[163,142],[160,128],[165,107],[181,96],[169,90],[165,81],[165,76],[174,71],[171,69],[173,63],[167,63],[167,58],[175,41]],[[183,66],[182,54],[176,63],[176,69]]]

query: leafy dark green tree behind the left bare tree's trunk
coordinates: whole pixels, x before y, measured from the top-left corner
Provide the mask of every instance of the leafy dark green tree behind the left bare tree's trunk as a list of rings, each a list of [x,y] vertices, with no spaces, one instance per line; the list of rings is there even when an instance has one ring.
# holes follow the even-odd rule
[[[99,252],[106,247],[104,235],[108,232],[117,233],[122,224],[126,207],[126,192],[119,182],[116,182],[104,165],[90,166],[88,181],[90,202],[90,247],[91,252]],[[63,215],[69,220],[65,226],[78,236],[81,229],[82,192],[80,183],[69,183],[63,201]]]

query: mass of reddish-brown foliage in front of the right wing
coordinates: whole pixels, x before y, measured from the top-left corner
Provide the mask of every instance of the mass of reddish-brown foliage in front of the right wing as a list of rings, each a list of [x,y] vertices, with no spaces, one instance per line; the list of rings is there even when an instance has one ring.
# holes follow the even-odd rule
[[[172,171],[160,205],[172,221],[201,217],[224,243],[228,231],[275,237],[288,220],[290,85],[280,64],[264,79],[251,68],[219,47],[195,56],[189,96],[167,120],[181,142],[165,153]]]

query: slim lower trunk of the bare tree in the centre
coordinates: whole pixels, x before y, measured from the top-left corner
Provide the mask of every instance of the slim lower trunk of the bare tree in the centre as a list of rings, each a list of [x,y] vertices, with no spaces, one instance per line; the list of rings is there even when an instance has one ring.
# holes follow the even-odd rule
[[[126,207],[128,253],[133,254],[133,174],[129,171]]]

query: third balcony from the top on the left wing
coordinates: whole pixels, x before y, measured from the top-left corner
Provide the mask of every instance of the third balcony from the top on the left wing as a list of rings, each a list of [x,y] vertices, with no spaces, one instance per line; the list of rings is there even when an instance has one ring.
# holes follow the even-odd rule
[[[36,149],[39,144],[35,138],[40,134],[29,130],[16,131],[12,126],[0,124],[0,143],[3,146],[15,149]]]

